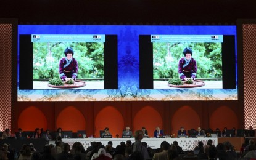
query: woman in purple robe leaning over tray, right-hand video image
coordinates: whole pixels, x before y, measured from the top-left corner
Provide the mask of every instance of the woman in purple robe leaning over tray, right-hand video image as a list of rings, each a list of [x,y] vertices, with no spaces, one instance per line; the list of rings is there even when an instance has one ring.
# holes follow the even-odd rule
[[[183,81],[188,81],[188,79],[195,79],[197,73],[197,65],[196,60],[192,58],[192,49],[190,47],[186,47],[183,50],[184,57],[179,60],[178,63],[178,73],[180,79]]]

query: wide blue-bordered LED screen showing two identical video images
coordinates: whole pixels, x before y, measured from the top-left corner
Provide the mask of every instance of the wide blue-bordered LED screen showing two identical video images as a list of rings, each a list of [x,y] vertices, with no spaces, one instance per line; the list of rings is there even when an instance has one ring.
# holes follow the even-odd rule
[[[236,26],[18,29],[19,101],[238,99]],[[190,55],[184,54],[186,49]],[[196,62],[192,69],[185,65],[190,61]],[[192,86],[169,84],[188,70]]]

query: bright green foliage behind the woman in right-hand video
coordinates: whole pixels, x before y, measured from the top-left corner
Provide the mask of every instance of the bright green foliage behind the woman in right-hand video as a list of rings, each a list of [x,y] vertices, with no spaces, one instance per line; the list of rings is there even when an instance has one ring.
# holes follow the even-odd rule
[[[191,47],[197,62],[196,78],[222,78],[221,43],[153,43],[155,78],[178,78],[178,61],[185,47]]]

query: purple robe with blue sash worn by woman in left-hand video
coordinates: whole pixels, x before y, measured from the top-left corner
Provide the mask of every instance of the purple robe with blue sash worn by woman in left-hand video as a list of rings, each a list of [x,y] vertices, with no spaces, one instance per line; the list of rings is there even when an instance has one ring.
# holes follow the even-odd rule
[[[65,80],[65,78],[73,78],[76,79],[77,72],[78,72],[78,63],[75,60],[75,58],[72,57],[72,60],[69,65],[65,66],[67,64],[67,61],[65,60],[65,57],[60,60],[59,63],[59,74],[62,81]]]

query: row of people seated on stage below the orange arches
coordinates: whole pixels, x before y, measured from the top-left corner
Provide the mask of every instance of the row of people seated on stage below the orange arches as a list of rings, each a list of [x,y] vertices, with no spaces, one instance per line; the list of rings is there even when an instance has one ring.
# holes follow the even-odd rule
[[[145,127],[142,127],[142,132],[145,137],[148,137],[148,133]],[[244,129],[227,129],[226,127],[221,131],[220,129],[201,129],[198,127],[197,130],[191,129],[186,132],[184,127],[180,127],[180,130],[177,132],[177,137],[213,137],[212,135],[216,135],[216,137],[255,137],[255,130],[252,129],[252,126],[249,127],[249,130]],[[36,128],[34,132],[22,132],[22,129],[19,128],[18,132],[15,133],[14,136],[10,134],[10,129],[6,129],[2,136],[2,138],[44,138],[46,140],[55,140],[57,136],[62,138],[85,138],[86,133],[84,130],[80,130],[76,133],[72,131],[62,131],[61,128],[57,129],[57,132],[50,133],[50,130],[46,130],[44,132],[43,129]],[[175,134],[165,135],[163,130],[160,130],[160,127],[156,127],[154,131],[154,137],[174,137]],[[116,137],[119,135],[117,134]],[[104,130],[100,131],[100,137],[111,137],[112,134],[109,131],[108,127],[105,127]],[[130,130],[130,127],[125,127],[125,130],[122,133],[122,137],[133,137],[133,132]]]

